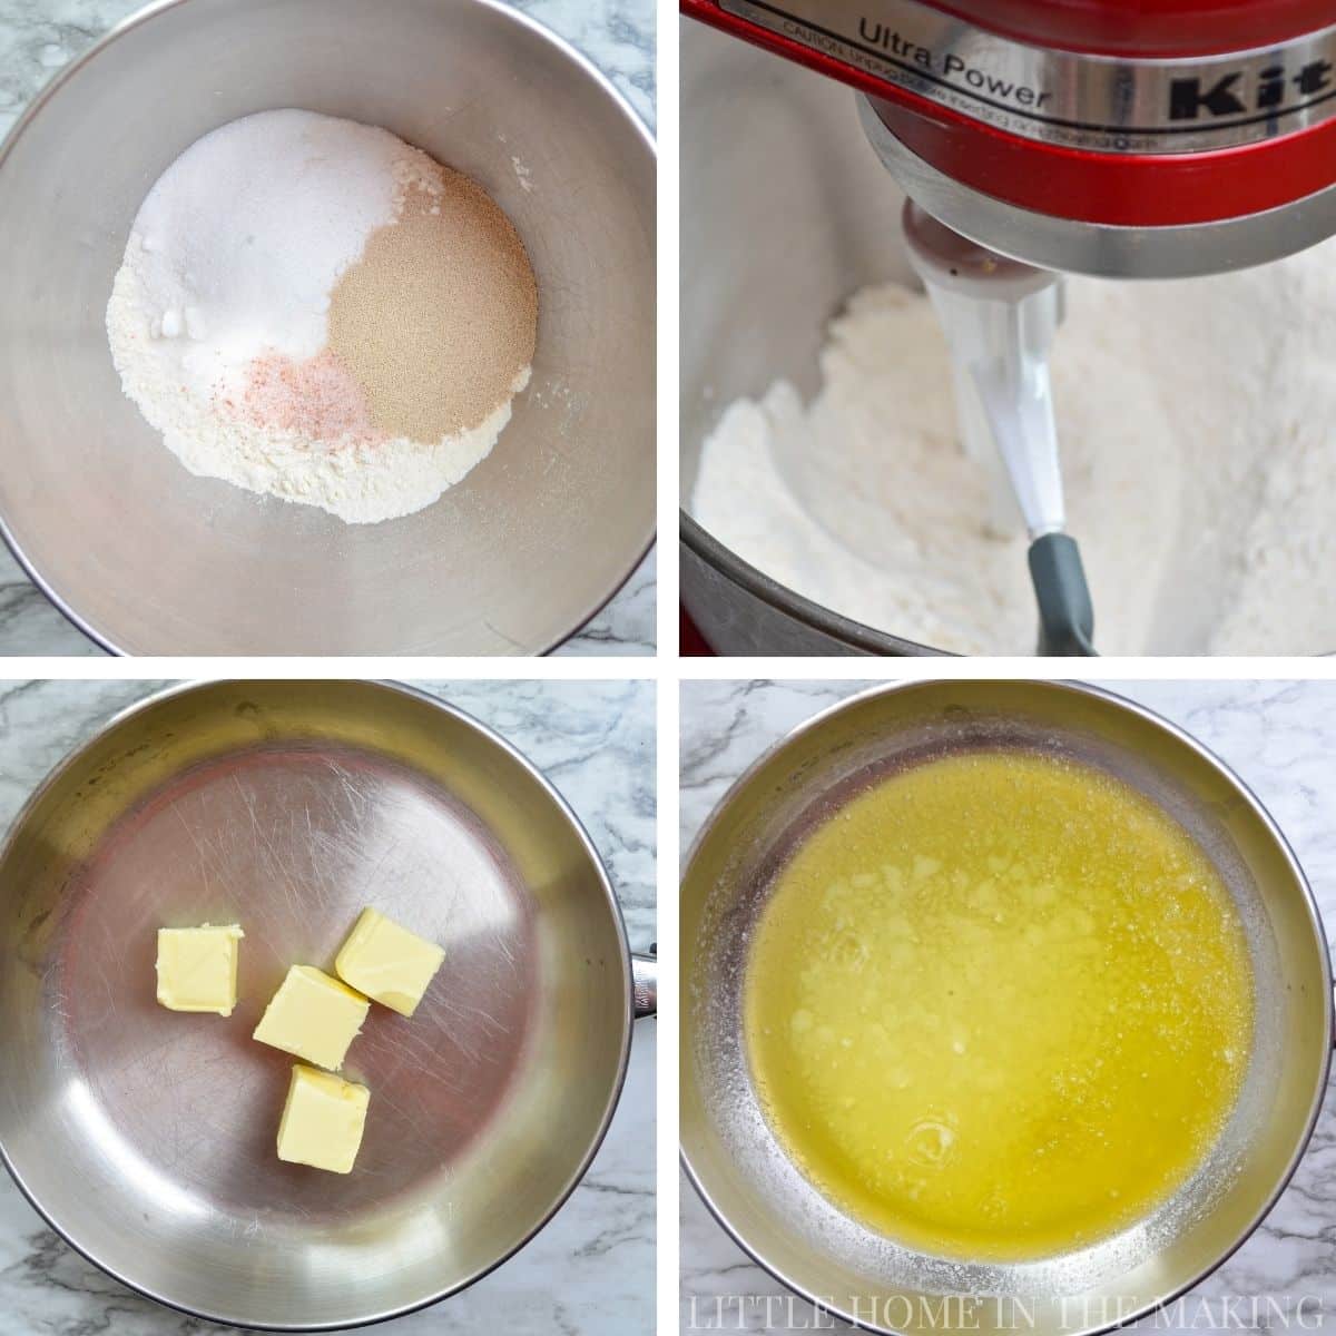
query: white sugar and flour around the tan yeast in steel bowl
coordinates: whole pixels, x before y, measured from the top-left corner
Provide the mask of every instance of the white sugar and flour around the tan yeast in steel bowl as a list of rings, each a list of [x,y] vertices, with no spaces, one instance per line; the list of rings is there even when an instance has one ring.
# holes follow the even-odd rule
[[[191,473],[375,522],[430,505],[490,452],[509,401],[436,444],[370,430],[338,377],[322,382],[315,420],[290,414],[295,426],[228,411],[257,359],[321,354],[338,279],[432,170],[385,130],[287,110],[212,131],[162,175],[135,218],[107,335],[126,394]]]

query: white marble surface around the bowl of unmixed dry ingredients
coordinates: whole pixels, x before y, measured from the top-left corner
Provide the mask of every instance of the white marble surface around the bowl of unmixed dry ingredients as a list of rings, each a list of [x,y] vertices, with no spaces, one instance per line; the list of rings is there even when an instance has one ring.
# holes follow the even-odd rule
[[[0,136],[33,94],[142,0],[0,0]],[[561,33],[655,127],[653,0],[513,0]],[[655,652],[655,553],[612,601],[556,653]],[[0,656],[102,655],[49,604],[0,544]]]

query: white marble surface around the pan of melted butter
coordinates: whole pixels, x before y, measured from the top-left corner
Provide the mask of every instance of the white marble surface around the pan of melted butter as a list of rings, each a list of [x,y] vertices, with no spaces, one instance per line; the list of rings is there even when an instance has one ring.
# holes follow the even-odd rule
[[[819,709],[870,683],[687,681],[681,687],[683,854],[727,787],[772,743]],[[1105,683],[1196,735],[1267,804],[1293,846],[1336,933],[1336,683],[1217,681]],[[681,1181],[683,1331],[717,1323],[764,1331],[766,1296],[786,1295],[719,1228],[692,1186]],[[695,1317],[691,1301],[696,1299]],[[740,1300],[736,1296],[748,1296]],[[1186,1329],[1238,1328],[1252,1311],[1221,1308],[1226,1296],[1273,1297],[1291,1325],[1320,1305],[1336,1324],[1336,1098],[1328,1090],[1308,1153],[1280,1202],[1253,1237],[1188,1297]],[[1300,1300],[1307,1300],[1301,1309]],[[810,1308],[775,1309],[778,1328],[812,1325]],[[741,1319],[741,1324],[739,1324]],[[843,1323],[823,1317],[831,1329]],[[1146,1329],[1172,1331],[1168,1317]],[[1281,1325],[1273,1320],[1273,1325]]]

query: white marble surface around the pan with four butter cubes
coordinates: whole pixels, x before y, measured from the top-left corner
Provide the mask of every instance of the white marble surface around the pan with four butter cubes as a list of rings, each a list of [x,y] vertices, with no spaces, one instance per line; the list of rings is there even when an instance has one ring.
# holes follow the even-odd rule
[[[158,683],[0,683],[0,823],[72,747]],[[496,728],[561,790],[597,846],[633,947],[655,939],[655,688],[643,681],[418,683]],[[653,1328],[655,1022],[640,1021],[612,1128],[584,1182],[472,1289],[374,1328],[623,1336]],[[0,1336],[187,1336],[235,1328],[162,1308],[86,1263],[0,1172]]]

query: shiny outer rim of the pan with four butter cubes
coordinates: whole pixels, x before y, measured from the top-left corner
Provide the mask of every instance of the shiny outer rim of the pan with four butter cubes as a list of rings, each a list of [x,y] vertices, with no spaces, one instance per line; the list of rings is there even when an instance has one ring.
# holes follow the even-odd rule
[[[178,3],[178,0],[168,0],[168,3]],[[244,679],[232,679],[232,680],[243,681]],[[287,685],[302,687],[311,684],[329,685],[331,681],[331,679],[291,679],[291,677],[259,679],[259,680],[262,683],[267,681],[269,684],[278,684],[285,687]],[[599,1153],[599,1149],[608,1134],[608,1128],[612,1124],[612,1118],[617,1110],[617,1105],[621,1102],[621,1094],[623,1090],[625,1089],[625,1082],[627,1082],[627,1070],[631,1062],[631,1034],[632,1034],[632,1025],[635,1021],[635,993],[633,993],[633,978],[632,978],[632,965],[631,965],[631,946],[627,938],[625,919],[623,918],[621,904],[617,900],[616,891],[613,890],[612,886],[612,878],[608,875],[608,870],[603,862],[603,858],[600,856],[599,850],[595,847],[595,843],[591,839],[588,830],[585,830],[584,823],[574,814],[570,804],[565,800],[565,798],[561,796],[556,786],[546,778],[546,775],[544,775],[542,771],[538,770],[538,767],[533,762],[530,762],[517,747],[514,747],[514,744],[509,743],[505,737],[502,737],[498,732],[496,732],[496,729],[490,728],[488,724],[484,724],[473,715],[468,713],[464,709],[460,709],[458,705],[452,705],[448,701],[441,700],[438,696],[433,696],[429,692],[422,691],[420,687],[414,687],[409,683],[393,681],[389,679],[379,679],[379,680],[333,679],[333,680],[341,683],[342,685],[357,685],[358,688],[362,689],[371,688],[373,693],[387,691],[399,696],[406,696],[422,704],[434,707],[436,709],[438,709],[445,715],[449,715],[458,723],[464,724],[466,728],[472,728],[485,741],[490,743],[494,747],[498,747],[505,755],[510,758],[510,760],[516,762],[529,775],[529,778],[538,784],[540,790],[546,795],[546,798],[556,804],[558,814],[565,818],[577,842],[582,847],[591,866],[597,874],[599,886],[603,890],[604,899],[611,910],[612,923],[616,930],[617,938],[621,943],[620,965],[623,973],[623,997],[624,997],[621,1045],[617,1055],[617,1069],[616,1073],[613,1074],[612,1082],[609,1083],[608,1098],[604,1104],[603,1113],[599,1117],[599,1125],[589,1140],[588,1148],[581,1153],[581,1156],[570,1169],[566,1181],[554,1194],[552,1202],[533,1221],[533,1224],[529,1226],[524,1237],[521,1237],[514,1244],[514,1246],[512,1246],[505,1253],[490,1261],[486,1267],[474,1271],[472,1275],[469,1275],[460,1283],[452,1284],[445,1289],[441,1289],[430,1295],[426,1299],[415,1300],[411,1304],[405,1304],[398,1308],[386,1309],[383,1312],[377,1312],[366,1317],[354,1317],[349,1320],[319,1321],[319,1323],[298,1321],[298,1323],[261,1324],[253,1320],[228,1316],[226,1313],[219,1315],[219,1313],[203,1312],[198,1308],[191,1308],[188,1304],[167,1299],[164,1295],[155,1292],[152,1288],[139,1284],[131,1277],[122,1275],[110,1264],[104,1263],[94,1253],[94,1250],[77,1242],[72,1237],[71,1230],[65,1225],[61,1225],[45,1209],[45,1206],[43,1206],[43,1204],[37,1200],[37,1196],[28,1188],[28,1184],[24,1181],[21,1173],[19,1172],[17,1165],[15,1165],[13,1160],[11,1158],[9,1150],[5,1146],[3,1137],[0,1137],[0,1162],[3,1162],[5,1169],[9,1172],[9,1177],[19,1188],[19,1192],[24,1196],[24,1198],[28,1201],[32,1209],[37,1212],[37,1214],[43,1218],[43,1221],[52,1230],[55,1230],[56,1236],[61,1238],[76,1253],[79,1253],[80,1257],[91,1263],[104,1275],[111,1276],[112,1280],[118,1281],[122,1285],[126,1285],[128,1289],[132,1289],[135,1293],[142,1295],[144,1299],[151,1299],[154,1303],[162,1304],[164,1308],[171,1308],[175,1312],[184,1313],[188,1317],[198,1317],[204,1321],[239,1327],[244,1331],[333,1332],[333,1331],[349,1331],[357,1327],[370,1327],[377,1323],[390,1321],[394,1317],[405,1317],[409,1313],[415,1313],[425,1308],[430,1308],[433,1304],[441,1303],[442,1300],[449,1299],[453,1295],[458,1295],[462,1291],[468,1289],[470,1285],[477,1284],[477,1281],[482,1280],[485,1276],[489,1276],[493,1271],[508,1263],[512,1257],[516,1256],[516,1253],[518,1253],[522,1248],[525,1248],[529,1242],[532,1242],[537,1237],[537,1234],[540,1234],[548,1226],[548,1224],[550,1224],[556,1213],[566,1204],[566,1201],[570,1198],[576,1188],[578,1188],[580,1184],[584,1181],[585,1174],[589,1172],[589,1166],[593,1164],[595,1156]],[[212,679],[206,681],[180,681],[164,687],[159,691],[154,691],[150,695],[144,696],[142,700],[136,700],[130,705],[126,705],[123,709],[116,711],[116,713],[112,715],[108,720],[106,720],[106,723],[103,723],[95,732],[92,732],[88,737],[83,739],[77,745],[72,747],[59,762],[56,762],[56,764],[51,768],[51,771],[48,771],[48,774],[43,778],[41,783],[37,784],[37,787],[32,791],[32,794],[24,802],[23,807],[15,815],[13,820],[9,823],[9,827],[5,830],[3,839],[0,839],[0,868],[4,867],[7,859],[9,858],[15,839],[17,838],[19,832],[23,830],[24,824],[31,818],[33,810],[44,798],[47,798],[51,792],[56,790],[56,787],[60,784],[61,780],[64,780],[64,778],[68,775],[68,772],[79,760],[79,758],[83,756],[90,747],[100,741],[114,729],[122,727],[126,723],[130,723],[135,716],[150,713],[151,711],[156,709],[159,705],[164,704],[168,700],[174,700],[179,696],[187,696],[199,691],[208,691],[218,685],[224,685],[227,684],[227,681],[228,679]]]

